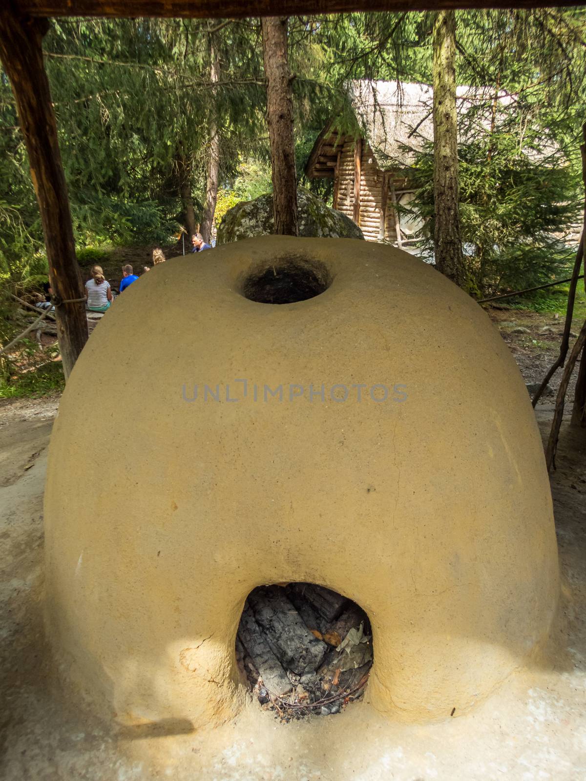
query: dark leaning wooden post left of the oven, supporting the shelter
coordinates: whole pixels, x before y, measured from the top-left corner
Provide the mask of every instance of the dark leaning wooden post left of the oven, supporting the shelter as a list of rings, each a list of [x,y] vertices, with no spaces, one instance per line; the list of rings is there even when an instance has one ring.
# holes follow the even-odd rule
[[[19,18],[0,11],[0,59],[9,77],[27,145],[30,176],[45,234],[49,282],[55,296],[57,337],[66,378],[86,341],[88,319],[83,302],[59,305],[84,296],[75,256],[70,203],[57,141],[57,123],[43,64],[44,19]]]

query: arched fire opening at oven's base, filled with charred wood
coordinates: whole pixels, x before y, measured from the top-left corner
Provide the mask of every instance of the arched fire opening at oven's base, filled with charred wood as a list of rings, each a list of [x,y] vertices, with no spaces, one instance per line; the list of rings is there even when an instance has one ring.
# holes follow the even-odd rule
[[[262,586],[245,602],[236,658],[253,695],[277,718],[334,715],[364,693],[370,621],[356,602],[313,583]]]

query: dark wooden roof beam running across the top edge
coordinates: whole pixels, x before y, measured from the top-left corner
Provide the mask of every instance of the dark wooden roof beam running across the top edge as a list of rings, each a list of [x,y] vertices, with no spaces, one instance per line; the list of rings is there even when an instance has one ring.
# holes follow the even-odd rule
[[[352,11],[438,11],[458,8],[539,8],[580,0],[13,0],[27,16],[195,17],[301,16]]]

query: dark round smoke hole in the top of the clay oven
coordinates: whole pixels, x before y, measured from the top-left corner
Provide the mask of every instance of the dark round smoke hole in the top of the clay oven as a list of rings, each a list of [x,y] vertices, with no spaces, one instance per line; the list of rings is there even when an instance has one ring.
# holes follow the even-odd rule
[[[331,281],[322,262],[302,255],[281,255],[250,270],[241,294],[259,304],[294,304],[327,291]]]

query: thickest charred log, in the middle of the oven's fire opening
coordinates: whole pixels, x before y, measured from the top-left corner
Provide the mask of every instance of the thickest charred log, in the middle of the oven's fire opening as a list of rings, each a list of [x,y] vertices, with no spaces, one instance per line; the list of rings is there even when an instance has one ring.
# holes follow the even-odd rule
[[[284,589],[255,589],[248,596],[248,602],[281,665],[300,676],[315,672],[326,654],[327,645],[309,631],[285,596]]]

